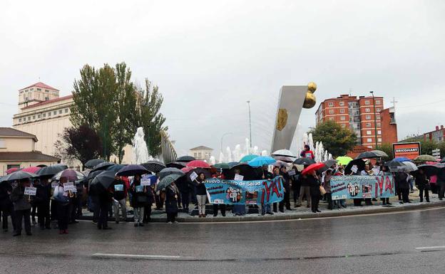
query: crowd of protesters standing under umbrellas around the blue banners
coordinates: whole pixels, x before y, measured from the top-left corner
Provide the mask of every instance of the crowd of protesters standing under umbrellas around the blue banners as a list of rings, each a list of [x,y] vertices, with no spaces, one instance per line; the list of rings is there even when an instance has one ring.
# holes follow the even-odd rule
[[[313,153],[305,149],[302,157],[313,157]],[[379,174],[373,174],[375,167],[379,167]],[[272,169],[271,169],[272,168]],[[306,202],[307,208],[313,213],[321,212],[319,208],[320,201],[327,203],[327,209],[346,208],[344,199],[332,200],[331,179],[332,176],[342,176],[344,167],[340,164],[334,164],[324,172],[312,171],[302,174],[294,165],[287,167],[285,165],[275,167],[263,165],[256,179],[274,179],[277,176],[282,178],[284,186],[284,199],[280,203],[260,204],[258,212],[261,215],[274,214],[278,211],[292,211],[291,197],[294,207],[302,206]],[[235,170],[235,174],[240,174],[240,170]],[[409,191],[415,186],[419,189],[420,201],[429,202],[429,191],[431,189],[429,177],[424,174],[423,170],[419,170],[413,176],[403,170],[399,172],[389,172],[384,163],[377,162],[372,165],[367,162],[364,169],[359,172],[352,172],[346,175],[394,175],[396,194],[400,203],[411,203],[409,200]],[[157,175],[157,174],[154,174]],[[226,178],[225,174],[220,170],[216,170],[211,174],[212,177],[220,179]],[[97,228],[101,230],[111,229],[108,226],[108,219],[114,216],[114,221],[119,223],[128,220],[128,203],[133,210],[134,226],[144,226],[144,223],[151,221],[151,213],[153,205],[157,210],[165,210],[168,223],[177,223],[176,216],[179,211],[190,212],[190,202],[196,206],[196,215],[198,218],[205,218],[206,205],[208,204],[208,196],[205,189],[206,176],[200,172],[195,179],[195,184],[181,183],[179,181],[169,184],[162,191],[156,191],[156,184],[141,185],[140,175],[132,177],[116,176],[115,181],[106,189],[106,191],[98,191],[86,182],[80,182],[77,191],[66,191],[63,184],[66,179],[61,178],[58,181],[50,181],[48,179],[22,179],[14,181],[14,184],[2,182],[0,184],[0,210],[1,223],[4,231],[8,231],[10,216],[14,229],[14,236],[20,236],[22,231],[22,223],[24,223],[24,231],[26,235],[31,235],[31,226],[39,225],[42,230],[56,228],[58,233],[68,233],[68,225],[77,223],[76,218],[81,216],[84,197],[88,197],[88,209],[93,211],[93,222]],[[440,181],[444,181],[442,184]],[[36,187],[36,195],[30,196],[24,194],[26,186]],[[439,199],[444,198],[445,178],[439,178]],[[443,187],[442,187],[443,186]],[[291,195],[292,194],[292,195]],[[354,199],[354,206],[362,206],[362,202],[366,206],[370,206],[377,202],[377,199]],[[382,205],[391,205],[389,198],[382,198]],[[374,203],[373,203],[374,202]],[[165,209],[164,209],[165,206]],[[192,208],[194,208],[194,206]],[[243,216],[246,214],[246,208],[251,209],[252,205],[235,204],[227,206],[225,204],[213,204],[213,216],[226,216],[227,210],[231,209],[235,216]],[[295,210],[295,209],[294,209]],[[39,223],[36,222],[36,216]],[[52,223],[52,226],[51,226]]]

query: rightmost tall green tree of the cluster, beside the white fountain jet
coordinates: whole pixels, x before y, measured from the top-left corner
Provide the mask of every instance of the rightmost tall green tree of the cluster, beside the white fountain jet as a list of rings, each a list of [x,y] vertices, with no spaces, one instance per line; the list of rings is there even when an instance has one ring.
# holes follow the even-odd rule
[[[148,79],[145,79],[144,88],[138,88],[138,109],[140,111],[138,124],[143,127],[148,152],[153,156],[161,153],[160,131],[168,130],[168,127],[163,126],[165,117],[159,112],[163,100],[158,86],[153,86]]]

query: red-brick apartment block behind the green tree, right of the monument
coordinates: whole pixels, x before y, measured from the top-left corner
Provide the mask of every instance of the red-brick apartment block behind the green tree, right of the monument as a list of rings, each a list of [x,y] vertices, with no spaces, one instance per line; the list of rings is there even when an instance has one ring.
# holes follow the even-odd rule
[[[331,120],[349,127],[357,135],[357,144],[364,147],[375,147],[376,133],[377,144],[397,142],[394,107],[384,109],[383,97],[374,100],[372,96],[351,95],[324,100],[315,112],[317,124]]]

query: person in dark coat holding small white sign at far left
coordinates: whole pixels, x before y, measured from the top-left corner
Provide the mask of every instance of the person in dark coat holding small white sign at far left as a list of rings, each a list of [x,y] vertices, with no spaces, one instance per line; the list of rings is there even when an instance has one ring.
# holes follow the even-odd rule
[[[31,236],[31,199],[25,195],[25,186],[29,185],[29,180],[19,181],[11,192],[11,201],[14,203],[16,230],[13,236],[21,235],[21,222],[25,223],[26,235]]]

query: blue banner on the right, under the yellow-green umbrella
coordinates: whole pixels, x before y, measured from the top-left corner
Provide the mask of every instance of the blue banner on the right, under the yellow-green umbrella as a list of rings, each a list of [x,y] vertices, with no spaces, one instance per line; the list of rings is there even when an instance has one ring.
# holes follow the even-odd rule
[[[332,176],[332,200],[389,198],[394,196],[394,177],[382,176]]]

